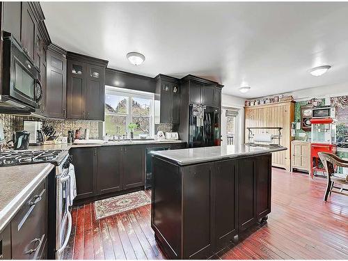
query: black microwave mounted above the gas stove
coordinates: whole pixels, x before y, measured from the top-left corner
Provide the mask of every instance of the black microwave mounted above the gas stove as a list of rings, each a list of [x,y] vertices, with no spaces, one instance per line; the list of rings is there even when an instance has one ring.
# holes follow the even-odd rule
[[[12,35],[3,38],[1,109],[35,111],[42,95],[40,70]]]

